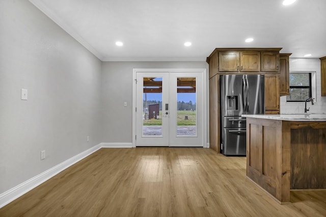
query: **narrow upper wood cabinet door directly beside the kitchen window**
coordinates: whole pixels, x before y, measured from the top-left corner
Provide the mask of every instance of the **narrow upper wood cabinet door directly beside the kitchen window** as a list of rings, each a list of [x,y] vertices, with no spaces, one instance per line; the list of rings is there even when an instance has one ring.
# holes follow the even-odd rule
[[[282,54],[280,53],[280,95],[289,95],[289,56],[290,54]]]

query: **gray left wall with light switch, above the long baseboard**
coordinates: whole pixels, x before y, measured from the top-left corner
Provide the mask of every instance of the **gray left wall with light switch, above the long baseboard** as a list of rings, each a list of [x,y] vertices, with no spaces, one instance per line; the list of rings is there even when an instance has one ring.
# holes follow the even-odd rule
[[[1,194],[101,142],[101,61],[27,0],[0,1],[0,32]]]

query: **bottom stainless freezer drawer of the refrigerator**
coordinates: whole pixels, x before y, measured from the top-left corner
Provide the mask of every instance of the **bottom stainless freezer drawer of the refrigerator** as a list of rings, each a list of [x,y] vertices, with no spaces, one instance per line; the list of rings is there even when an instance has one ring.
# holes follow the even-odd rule
[[[222,138],[222,154],[246,155],[246,128],[223,128]]]

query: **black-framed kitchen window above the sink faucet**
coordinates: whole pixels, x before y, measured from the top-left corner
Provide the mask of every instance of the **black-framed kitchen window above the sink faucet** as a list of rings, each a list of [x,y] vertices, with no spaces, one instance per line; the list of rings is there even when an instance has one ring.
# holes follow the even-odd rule
[[[312,96],[311,73],[290,73],[290,91],[286,96],[287,102],[304,102]]]

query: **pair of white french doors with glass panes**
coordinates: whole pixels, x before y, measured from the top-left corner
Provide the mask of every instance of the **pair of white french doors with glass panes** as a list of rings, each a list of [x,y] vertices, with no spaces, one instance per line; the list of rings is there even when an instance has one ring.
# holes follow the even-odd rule
[[[204,146],[203,72],[135,72],[135,146]]]

